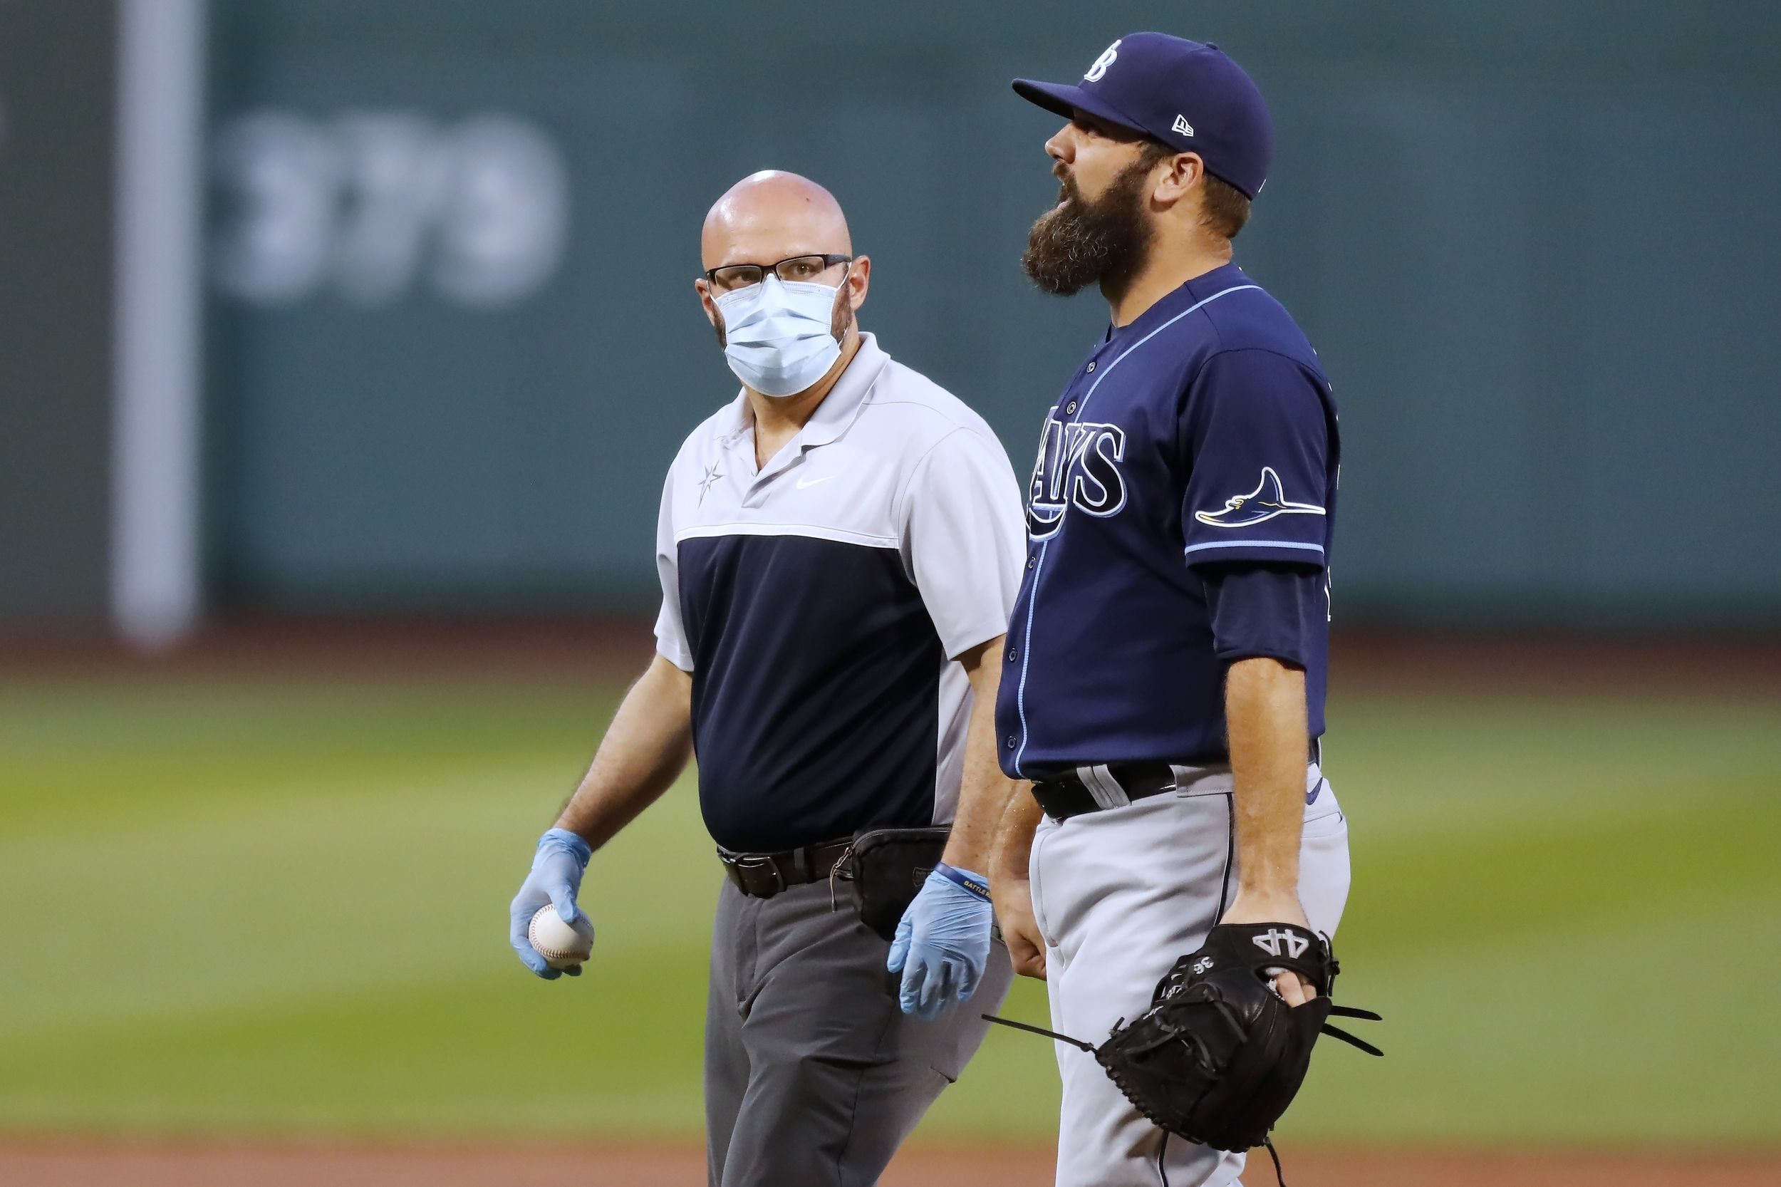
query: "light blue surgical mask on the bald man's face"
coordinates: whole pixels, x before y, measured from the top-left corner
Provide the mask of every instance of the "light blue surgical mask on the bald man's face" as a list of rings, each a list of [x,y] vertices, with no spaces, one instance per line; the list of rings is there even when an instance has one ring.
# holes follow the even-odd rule
[[[723,314],[723,356],[762,396],[796,396],[841,358],[834,335],[839,287],[768,274],[714,299]]]

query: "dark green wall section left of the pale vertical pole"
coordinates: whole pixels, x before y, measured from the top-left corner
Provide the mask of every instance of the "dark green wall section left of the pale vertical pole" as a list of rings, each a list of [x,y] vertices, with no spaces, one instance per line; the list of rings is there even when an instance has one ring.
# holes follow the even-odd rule
[[[0,2],[0,624],[105,615],[110,0]]]

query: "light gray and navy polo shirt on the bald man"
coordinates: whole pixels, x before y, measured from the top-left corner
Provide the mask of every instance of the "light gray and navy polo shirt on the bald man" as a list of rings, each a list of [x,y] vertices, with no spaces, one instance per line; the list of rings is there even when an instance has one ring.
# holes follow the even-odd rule
[[[764,467],[746,392],[700,424],[663,488],[655,642],[693,674],[711,836],[778,852],[951,820],[956,656],[1008,629],[1022,560],[988,424],[869,333]]]

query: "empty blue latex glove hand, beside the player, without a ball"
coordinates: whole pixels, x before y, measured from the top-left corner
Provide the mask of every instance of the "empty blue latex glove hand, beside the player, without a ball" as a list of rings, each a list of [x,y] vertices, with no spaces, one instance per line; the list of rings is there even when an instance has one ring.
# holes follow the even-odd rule
[[[933,1021],[942,1009],[978,991],[994,920],[988,879],[944,863],[935,866],[896,925],[885,961],[892,973],[903,973],[898,1000],[905,1014]]]

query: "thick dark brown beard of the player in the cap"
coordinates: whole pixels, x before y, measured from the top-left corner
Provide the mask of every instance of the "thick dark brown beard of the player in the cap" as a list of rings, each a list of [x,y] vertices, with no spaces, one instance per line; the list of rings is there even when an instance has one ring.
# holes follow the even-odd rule
[[[1021,255],[1033,283],[1056,296],[1092,283],[1124,289],[1151,255],[1154,228],[1143,209],[1143,184],[1152,168],[1149,160],[1131,162],[1095,201],[1065,175],[1063,201],[1038,216]]]

